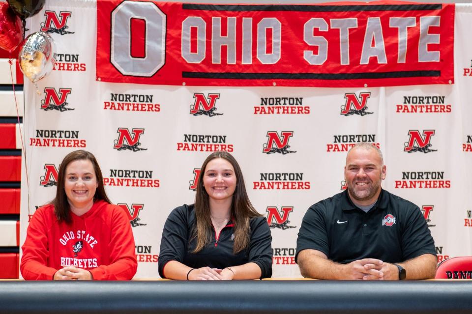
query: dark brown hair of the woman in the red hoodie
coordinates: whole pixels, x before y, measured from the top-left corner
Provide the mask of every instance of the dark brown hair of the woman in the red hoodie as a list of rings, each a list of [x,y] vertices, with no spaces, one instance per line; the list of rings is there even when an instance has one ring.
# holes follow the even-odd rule
[[[76,160],[89,160],[92,163],[93,170],[95,171],[95,177],[97,179],[98,187],[95,190],[95,195],[93,200],[104,200],[108,203],[111,201],[108,199],[108,196],[105,192],[105,187],[103,186],[103,176],[98,162],[93,156],[92,153],[86,150],[75,150],[71,153],[68,153],[59,166],[58,171],[58,188],[56,190],[56,197],[51,201],[51,204],[54,205],[54,213],[59,221],[65,221],[67,224],[72,222],[70,217],[70,205],[67,201],[67,195],[65,194],[64,181],[65,181],[65,169],[67,166]]]

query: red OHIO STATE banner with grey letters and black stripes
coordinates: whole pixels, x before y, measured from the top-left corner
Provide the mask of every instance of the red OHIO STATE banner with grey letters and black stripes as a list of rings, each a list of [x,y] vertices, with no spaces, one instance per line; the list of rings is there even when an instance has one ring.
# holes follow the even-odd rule
[[[453,4],[97,2],[97,80],[160,85],[450,84]]]

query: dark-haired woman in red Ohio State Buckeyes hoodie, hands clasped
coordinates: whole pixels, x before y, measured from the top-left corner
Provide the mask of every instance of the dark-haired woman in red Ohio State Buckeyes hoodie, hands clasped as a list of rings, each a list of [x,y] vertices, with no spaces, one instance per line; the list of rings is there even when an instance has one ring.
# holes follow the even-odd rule
[[[130,280],[134,238],[126,213],[112,205],[95,157],[76,150],[59,166],[51,203],[34,213],[23,244],[26,280]]]

